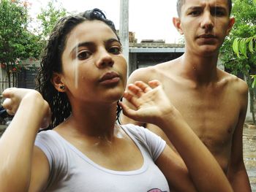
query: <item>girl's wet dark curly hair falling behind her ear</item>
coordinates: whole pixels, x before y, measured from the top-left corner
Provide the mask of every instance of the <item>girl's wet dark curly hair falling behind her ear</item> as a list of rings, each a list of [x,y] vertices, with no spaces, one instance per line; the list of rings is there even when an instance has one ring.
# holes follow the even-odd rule
[[[114,23],[108,20],[100,9],[87,10],[77,15],[69,15],[61,18],[50,34],[48,44],[45,47],[41,68],[37,74],[37,91],[43,98],[48,101],[52,118],[50,126],[47,129],[58,126],[61,122],[69,117],[72,112],[71,105],[66,93],[60,93],[54,88],[51,79],[54,72],[62,72],[61,55],[64,52],[67,37],[75,26],[86,20],[101,20],[106,23],[119,39]],[[117,107],[117,118],[121,112],[121,107]]]

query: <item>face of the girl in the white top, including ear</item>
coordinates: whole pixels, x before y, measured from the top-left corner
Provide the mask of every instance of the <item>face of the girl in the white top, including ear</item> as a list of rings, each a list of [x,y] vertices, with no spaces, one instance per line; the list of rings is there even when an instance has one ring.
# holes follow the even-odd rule
[[[70,101],[116,103],[123,95],[127,62],[116,34],[104,22],[86,20],[76,26],[61,61],[59,80]]]

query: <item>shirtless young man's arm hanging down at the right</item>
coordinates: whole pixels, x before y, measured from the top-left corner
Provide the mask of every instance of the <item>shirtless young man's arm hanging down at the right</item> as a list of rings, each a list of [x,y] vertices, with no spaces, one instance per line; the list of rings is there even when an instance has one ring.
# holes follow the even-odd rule
[[[241,82],[241,112],[239,115],[238,124],[233,134],[233,142],[230,156],[230,166],[227,172],[227,177],[234,191],[252,191],[249,184],[249,178],[246,173],[243,159],[243,127],[246,117],[248,88],[245,82]]]

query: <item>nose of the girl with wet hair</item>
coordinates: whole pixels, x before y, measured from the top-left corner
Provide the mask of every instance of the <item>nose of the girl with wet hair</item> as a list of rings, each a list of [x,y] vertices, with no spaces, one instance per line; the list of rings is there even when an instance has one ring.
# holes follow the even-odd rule
[[[96,65],[99,68],[105,67],[105,66],[113,66],[114,61],[110,53],[108,53],[107,50],[101,49],[98,53],[98,58]]]

